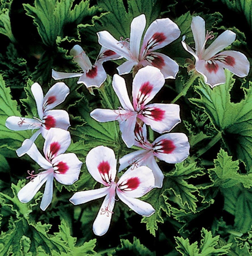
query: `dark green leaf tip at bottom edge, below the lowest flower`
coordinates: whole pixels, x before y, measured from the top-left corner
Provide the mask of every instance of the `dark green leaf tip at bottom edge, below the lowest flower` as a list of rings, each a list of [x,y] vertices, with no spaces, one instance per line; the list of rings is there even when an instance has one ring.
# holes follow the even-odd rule
[[[128,239],[121,239],[121,247],[117,247],[115,255],[124,255],[125,253],[133,253],[134,255],[151,256],[151,252],[147,247],[140,243],[136,237],[133,238],[133,243]]]

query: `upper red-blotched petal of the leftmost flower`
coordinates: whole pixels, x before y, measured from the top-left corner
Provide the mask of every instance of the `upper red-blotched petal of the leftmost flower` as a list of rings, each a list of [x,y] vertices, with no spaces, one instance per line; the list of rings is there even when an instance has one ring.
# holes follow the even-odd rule
[[[46,93],[45,98],[43,100],[43,112],[47,112],[48,110],[58,106],[62,103],[66,96],[69,94],[70,90],[65,85],[65,83],[58,82],[54,84]]]

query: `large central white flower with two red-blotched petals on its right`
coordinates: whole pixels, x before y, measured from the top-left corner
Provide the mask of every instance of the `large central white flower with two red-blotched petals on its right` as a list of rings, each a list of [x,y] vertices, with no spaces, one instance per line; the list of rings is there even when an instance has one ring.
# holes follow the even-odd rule
[[[122,139],[128,147],[135,142],[136,121],[150,125],[151,129],[158,133],[170,131],[180,122],[179,105],[161,103],[147,105],[162,88],[164,82],[164,76],[159,69],[151,66],[140,69],[133,79],[132,106],[124,79],[114,75],[113,88],[122,107],[117,110],[97,108],[90,115],[99,122],[119,121]]]

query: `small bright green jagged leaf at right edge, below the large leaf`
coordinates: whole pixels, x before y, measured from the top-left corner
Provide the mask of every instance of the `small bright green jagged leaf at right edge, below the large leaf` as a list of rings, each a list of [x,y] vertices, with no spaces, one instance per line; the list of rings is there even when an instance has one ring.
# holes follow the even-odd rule
[[[217,177],[213,178],[213,182],[219,184],[221,187],[232,187],[238,183],[242,183],[245,188],[252,187],[252,173],[240,174],[239,161],[232,161],[232,157],[228,156],[222,148],[217,154],[217,159],[213,160],[215,168],[209,169],[208,172],[214,172]]]

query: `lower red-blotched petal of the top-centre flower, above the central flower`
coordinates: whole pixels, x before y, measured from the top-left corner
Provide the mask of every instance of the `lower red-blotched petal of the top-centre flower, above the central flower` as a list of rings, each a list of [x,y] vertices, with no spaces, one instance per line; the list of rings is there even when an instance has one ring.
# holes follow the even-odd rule
[[[177,62],[162,53],[151,52],[146,55],[145,60],[146,62],[142,62],[143,66],[152,65],[153,67],[157,67],[165,79],[175,79],[179,72]]]

